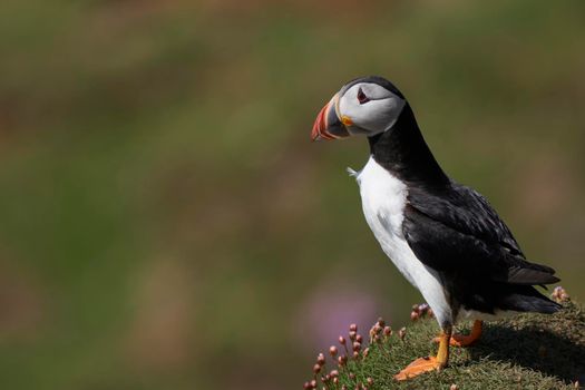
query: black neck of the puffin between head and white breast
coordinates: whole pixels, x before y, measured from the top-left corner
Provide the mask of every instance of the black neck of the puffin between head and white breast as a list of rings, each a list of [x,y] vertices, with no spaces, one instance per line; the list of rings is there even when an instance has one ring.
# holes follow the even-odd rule
[[[408,103],[390,129],[368,140],[373,159],[407,184],[441,187],[449,183],[422,138]]]

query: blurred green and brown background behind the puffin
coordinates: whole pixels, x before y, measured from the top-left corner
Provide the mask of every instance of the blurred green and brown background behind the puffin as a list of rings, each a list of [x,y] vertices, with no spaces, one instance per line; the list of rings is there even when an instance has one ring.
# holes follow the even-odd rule
[[[3,0],[1,388],[298,389],[406,323],[365,140],[309,140],[370,74],[583,299],[584,42],[581,0]]]

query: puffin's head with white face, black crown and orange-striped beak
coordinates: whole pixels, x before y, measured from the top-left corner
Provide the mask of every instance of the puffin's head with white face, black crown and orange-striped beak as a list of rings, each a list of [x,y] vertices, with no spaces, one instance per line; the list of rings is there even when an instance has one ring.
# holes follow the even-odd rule
[[[407,104],[387,79],[369,76],[344,85],[316,116],[311,138],[339,139],[357,134],[368,137],[390,129]]]

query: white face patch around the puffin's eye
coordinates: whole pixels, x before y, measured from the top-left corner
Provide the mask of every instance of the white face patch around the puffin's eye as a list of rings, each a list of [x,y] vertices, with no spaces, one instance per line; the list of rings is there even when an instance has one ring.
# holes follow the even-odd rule
[[[362,103],[360,103],[359,95]],[[404,99],[378,84],[359,82],[351,86],[341,96],[339,115],[348,117],[353,123],[353,126],[348,127],[350,133],[365,133],[371,136],[392,127],[404,104]]]

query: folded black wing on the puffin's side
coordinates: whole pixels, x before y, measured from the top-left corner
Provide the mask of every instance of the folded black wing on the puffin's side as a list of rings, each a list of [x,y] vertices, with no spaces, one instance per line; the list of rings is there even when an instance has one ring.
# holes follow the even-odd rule
[[[441,272],[470,270],[495,282],[549,284],[555,271],[525,256],[485,197],[452,183],[430,192],[411,188],[402,230],[426,265]]]

